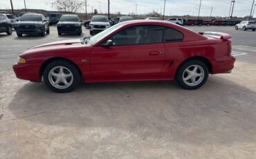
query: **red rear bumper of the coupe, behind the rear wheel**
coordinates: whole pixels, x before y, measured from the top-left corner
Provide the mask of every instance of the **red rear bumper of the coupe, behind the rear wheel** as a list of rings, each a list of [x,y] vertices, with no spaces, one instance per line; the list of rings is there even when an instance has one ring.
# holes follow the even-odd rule
[[[225,55],[221,58],[212,60],[212,74],[217,73],[231,73],[234,68],[235,57],[232,55]]]

